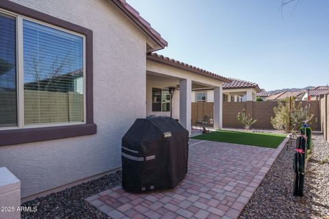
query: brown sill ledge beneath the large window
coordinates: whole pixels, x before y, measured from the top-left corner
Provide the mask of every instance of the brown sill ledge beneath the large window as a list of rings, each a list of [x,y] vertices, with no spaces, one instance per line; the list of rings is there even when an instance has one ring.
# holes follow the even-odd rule
[[[97,133],[97,125],[94,123],[57,127],[10,129],[0,131],[0,146],[87,136],[95,133]]]

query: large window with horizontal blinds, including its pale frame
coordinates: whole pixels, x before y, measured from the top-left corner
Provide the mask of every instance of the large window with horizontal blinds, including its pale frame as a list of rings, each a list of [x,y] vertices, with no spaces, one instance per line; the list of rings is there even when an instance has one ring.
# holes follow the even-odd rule
[[[0,27],[0,128],[86,123],[85,36],[5,14]]]

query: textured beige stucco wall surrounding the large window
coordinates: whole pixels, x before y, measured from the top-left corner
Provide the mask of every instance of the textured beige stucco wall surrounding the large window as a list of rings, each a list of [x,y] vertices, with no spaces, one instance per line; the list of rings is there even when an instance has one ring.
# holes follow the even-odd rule
[[[0,147],[29,196],[121,167],[121,138],[146,114],[146,37],[108,1],[13,0],[93,30],[97,134]]]

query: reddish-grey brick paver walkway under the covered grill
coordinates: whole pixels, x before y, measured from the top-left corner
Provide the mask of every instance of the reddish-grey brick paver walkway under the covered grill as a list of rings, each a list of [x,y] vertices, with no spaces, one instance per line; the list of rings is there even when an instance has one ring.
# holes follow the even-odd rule
[[[131,194],[117,186],[86,201],[111,218],[237,218],[283,146],[190,140],[188,174],[174,190]]]

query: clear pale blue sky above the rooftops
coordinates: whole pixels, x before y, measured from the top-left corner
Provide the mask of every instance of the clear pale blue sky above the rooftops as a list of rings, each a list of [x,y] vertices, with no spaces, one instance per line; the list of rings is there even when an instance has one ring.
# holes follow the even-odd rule
[[[329,1],[127,0],[169,42],[158,51],[261,88],[329,83]]]

